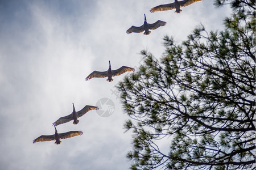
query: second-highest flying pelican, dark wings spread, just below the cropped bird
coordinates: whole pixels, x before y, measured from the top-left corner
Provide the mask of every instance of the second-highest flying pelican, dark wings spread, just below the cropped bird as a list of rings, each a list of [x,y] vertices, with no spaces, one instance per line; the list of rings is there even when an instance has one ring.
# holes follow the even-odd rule
[[[153,24],[148,24],[147,23],[147,19],[146,19],[146,15],[144,14],[144,24],[141,25],[141,27],[135,27],[135,26],[131,26],[131,28],[127,29],[126,33],[132,33],[132,32],[144,32],[144,35],[149,35],[151,31],[149,31],[148,29],[154,30],[156,28],[159,28],[160,26],[164,26],[166,25],[166,22],[163,22],[162,20],[158,20],[157,22],[153,23]]]

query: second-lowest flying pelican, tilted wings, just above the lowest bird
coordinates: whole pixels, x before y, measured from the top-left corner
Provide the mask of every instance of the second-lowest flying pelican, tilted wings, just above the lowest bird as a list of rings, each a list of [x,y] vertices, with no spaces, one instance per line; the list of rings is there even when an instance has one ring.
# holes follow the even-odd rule
[[[73,104],[73,112],[71,114],[69,114],[68,116],[59,118],[52,125],[57,126],[57,125],[64,124],[64,123],[72,121],[72,120],[73,120],[73,124],[76,125],[79,123],[79,120],[77,120],[77,118],[83,116],[86,112],[89,112],[92,110],[98,110],[98,107],[94,107],[92,105],[86,105],[84,108],[81,109],[81,111],[76,112],[75,106]]]

